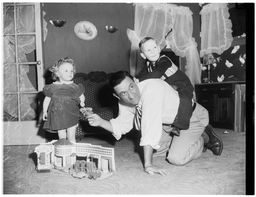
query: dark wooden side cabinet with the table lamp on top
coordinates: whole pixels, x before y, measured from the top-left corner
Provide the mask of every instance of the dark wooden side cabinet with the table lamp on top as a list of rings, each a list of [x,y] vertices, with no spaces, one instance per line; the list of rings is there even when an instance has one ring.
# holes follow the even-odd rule
[[[208,110],[213,127],[244,131],[245,105],[241,104],[241,97],[245,94],[245,81],[198,83],[195,93],[197,102]]]

